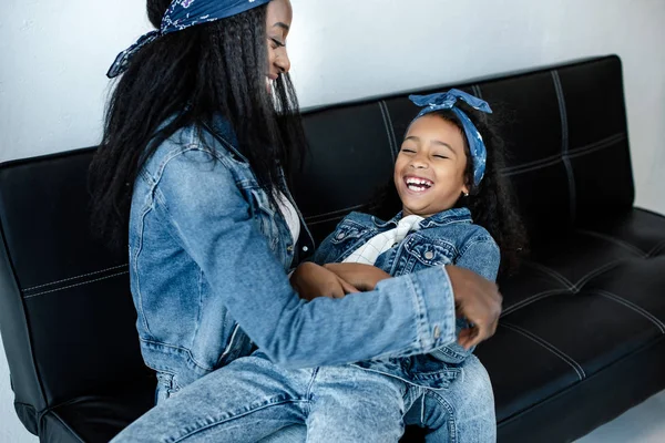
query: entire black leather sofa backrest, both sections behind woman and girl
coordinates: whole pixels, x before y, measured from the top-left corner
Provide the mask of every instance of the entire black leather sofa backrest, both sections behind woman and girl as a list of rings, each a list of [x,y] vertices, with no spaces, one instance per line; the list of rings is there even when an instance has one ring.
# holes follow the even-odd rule
[[[618,58],[457,87],[485,99],[508,122],[504,173],[533,238],[632,207]],[[407,95],[306,113],[310,157],[293,190],[319,240],[348,212],[367,210],[388,183],[416,114]],[[29,429],[58,403],[154,382],[139,351],[127,259],[90,235],[85,177],[93,153],[0,165],[0,331],[17,411]]]

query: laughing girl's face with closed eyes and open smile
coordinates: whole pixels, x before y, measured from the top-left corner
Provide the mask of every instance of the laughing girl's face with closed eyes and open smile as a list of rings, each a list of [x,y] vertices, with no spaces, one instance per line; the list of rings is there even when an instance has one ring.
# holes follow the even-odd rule
[[[433,114],[415,121],[395,163],[403,216],[427,218],[453,207],[462,193],[469,193],[466,168],[462,130]]]

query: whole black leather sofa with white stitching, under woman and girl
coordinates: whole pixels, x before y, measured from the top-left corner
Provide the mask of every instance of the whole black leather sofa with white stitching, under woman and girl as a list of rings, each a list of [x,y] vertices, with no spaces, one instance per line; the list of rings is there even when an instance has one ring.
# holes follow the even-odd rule
[[[621,61],[461,87],[504,115],[504,174],[531,237],[477,351],[499,439],[571,441],[665,389],[665,217],[633,207]],[[318,239],[367,209],[413,115],[406,94],[306,114],[311,155],[294,192]],[[43,442],[108,441],[153,402],[126,257],[89,231],[93,153],[0,166],[0,328],[17,413]]]

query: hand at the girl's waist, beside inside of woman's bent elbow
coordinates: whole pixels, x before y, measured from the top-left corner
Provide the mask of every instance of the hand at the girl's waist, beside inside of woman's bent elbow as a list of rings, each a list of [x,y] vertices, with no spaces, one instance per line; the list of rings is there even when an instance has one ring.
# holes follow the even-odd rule
[[[347,293],[358,292],[354,285],[310,261],[305,261],[296,268],[290,277],[290,284],[305,300],[314,300],[317,297],[342,298]]]

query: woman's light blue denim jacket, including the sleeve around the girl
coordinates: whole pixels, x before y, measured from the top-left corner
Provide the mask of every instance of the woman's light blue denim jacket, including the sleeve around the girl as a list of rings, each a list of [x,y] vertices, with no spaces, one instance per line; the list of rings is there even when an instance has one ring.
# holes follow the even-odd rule
[[[235,144],[221,119],[202,135],[182,128],[135,181],[131,290],[143,358],[162,391],[248,354],[254,343],[276,363],[304,368],[420,354],[454,341],[452,288],[440,266],[362,297],[300,300],[287,271],[298,254],[314,250],[311,237],[301,222],[305,234],[294,245]]]

